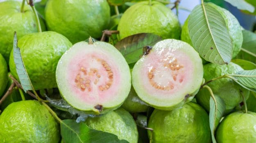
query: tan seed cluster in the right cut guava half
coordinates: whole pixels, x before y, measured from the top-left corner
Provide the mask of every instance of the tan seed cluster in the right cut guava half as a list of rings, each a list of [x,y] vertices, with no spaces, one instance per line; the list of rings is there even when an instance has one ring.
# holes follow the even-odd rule
[[[181,68],[183,68],[184,66],[183,65],[179,65],[178,62],[177,62],[177,59],[174,58],[174,60],[172,60],[171,62],[168,62],[168,63],[164,63],[163,65],[164,67],[168,67],[170,68],[172,71],[177,71]],[[163,90],[163,91],[170,91],[171,89],[174,88],[174,86],[172,84],[170,85],[167,85],[167,86],[161,86],[159,85],[158,83],[156,83],[154,81],[154,71],[156,69],[155,68],[152,68],[150,69],[150,71],[148,72],[147,74],[147,77],[149,78],[150,80],[150,84],[152,85],[152,87],[156,88],[156,89],[159,89],[159,90]],[[173,80],[176,81],[177,80],[177,74],[174,74],[172,76]],[[181,83],[183,80],[180,79],[179,82]]]

